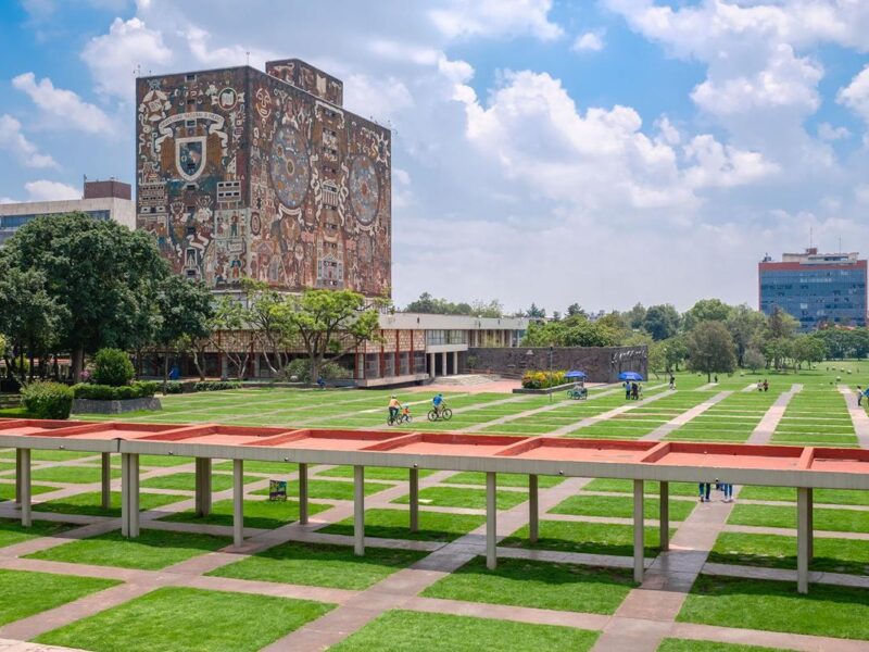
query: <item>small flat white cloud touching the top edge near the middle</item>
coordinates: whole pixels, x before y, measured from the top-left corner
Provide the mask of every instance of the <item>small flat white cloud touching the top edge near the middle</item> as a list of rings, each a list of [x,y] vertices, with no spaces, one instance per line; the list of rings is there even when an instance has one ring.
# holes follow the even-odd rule
[[[546,41],[564,34],[551,9],[552,0],[452,0],[429,16],[449,38],[530,34]]]

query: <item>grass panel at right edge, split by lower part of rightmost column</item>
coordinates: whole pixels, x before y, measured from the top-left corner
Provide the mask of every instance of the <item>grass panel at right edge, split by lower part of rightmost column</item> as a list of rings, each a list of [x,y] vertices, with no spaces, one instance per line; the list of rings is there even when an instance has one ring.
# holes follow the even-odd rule
[[[796,568],[796,537],[721,532],[709,562]],[[815,537],[813,570],[869,575],[869,541]]]

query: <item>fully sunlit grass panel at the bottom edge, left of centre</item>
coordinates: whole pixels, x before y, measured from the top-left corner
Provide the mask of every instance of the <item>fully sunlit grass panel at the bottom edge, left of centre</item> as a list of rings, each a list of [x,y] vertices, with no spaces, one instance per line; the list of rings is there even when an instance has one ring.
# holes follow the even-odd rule
[[[308,600],[168,587],[36,641],[95,652],[254,652],[330,609]]]

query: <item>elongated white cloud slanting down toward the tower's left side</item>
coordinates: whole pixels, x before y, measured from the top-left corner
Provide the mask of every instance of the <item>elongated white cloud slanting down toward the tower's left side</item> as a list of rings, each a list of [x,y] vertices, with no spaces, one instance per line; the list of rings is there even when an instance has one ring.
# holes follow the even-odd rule
[[[12,86],[27,93],[34,103],[53,118],[55,126],[71,126],[88,134],[113,134],[112,120],[93,104],[81,100],[72,90],[55,88],[51,79],[36,82],[33,73],[24,73],[12,79]]]

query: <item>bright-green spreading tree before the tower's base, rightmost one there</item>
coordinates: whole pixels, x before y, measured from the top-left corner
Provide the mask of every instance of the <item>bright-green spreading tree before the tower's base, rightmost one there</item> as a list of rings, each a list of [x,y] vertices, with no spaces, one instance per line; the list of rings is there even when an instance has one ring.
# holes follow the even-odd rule
[[[298,335],[307,352],[311,378],[319,377],[324,362],[340,358],[376,338],[378,305],[351,290],[305,290],[280,306],[285,342]]]

